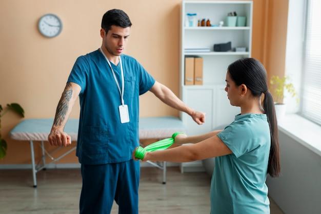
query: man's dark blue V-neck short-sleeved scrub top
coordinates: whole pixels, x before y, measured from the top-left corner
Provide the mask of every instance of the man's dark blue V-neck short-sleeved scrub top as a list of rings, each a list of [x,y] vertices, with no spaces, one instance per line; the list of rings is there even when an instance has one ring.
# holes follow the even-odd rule
[[[155,83],[153,77],[133,57],[121,55],[124,70],[124,101],[129,123],[121,123],[118,91],[112,71],[101,51],[96,50],[76,60],[67,82],[78,84],[81,106],[76,155],[82,164],[119,163],[131,159],[139,144],[139,95]],[[122,87],[121,66],[112,64]]]

